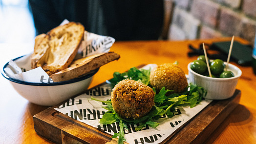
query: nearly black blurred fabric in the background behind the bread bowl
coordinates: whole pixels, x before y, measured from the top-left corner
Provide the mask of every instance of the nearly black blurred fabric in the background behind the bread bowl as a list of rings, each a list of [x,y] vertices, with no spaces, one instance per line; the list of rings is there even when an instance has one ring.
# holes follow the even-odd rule
[[[163,0],[29,0],[36,35],[64,19],[116,41],[157,40],[164,19]]]

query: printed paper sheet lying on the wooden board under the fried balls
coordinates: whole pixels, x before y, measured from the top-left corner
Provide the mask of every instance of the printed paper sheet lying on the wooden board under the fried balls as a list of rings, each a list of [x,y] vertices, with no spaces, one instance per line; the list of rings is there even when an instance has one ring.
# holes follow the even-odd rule
[[[143,68],[148,69],[151,66],[155,65],[147,65]],[[91,97],[102,101],[109,100],[111,98],[111,91],[112,87],[108,83],[98,86],[96,88],[90,89],[80,96],[69,99],[67,103],[60,105],[59,108],[55,108],[55,110],[80,122],[98,127],[113,135],[114,133],[119,132],[120,128],[118,123],[112,123],[110,125],[100,124],[99,121],[107,110],[102,108],[104,103],[91,100]],[[129,144],[161,143],[177,128],[192,119],[192,117],[194,117],[211,102],[211,100],[204,100],[193,108],[190,108],[189,105],[178,106],[172,118],[163,116],[157,120],[156,122],[160,123],[160,125],[156,128],[146,127],[141,131],[135,131],[136,125],[130,124],[128,125],[129,130],[125,129],[125,138]]]

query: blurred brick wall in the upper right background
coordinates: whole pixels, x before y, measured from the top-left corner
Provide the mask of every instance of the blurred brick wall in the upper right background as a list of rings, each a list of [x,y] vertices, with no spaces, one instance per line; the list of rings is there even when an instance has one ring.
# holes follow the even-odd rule
[[[165,0],[165,7],[168,40],[233,35],[255,40],[256,0]]]

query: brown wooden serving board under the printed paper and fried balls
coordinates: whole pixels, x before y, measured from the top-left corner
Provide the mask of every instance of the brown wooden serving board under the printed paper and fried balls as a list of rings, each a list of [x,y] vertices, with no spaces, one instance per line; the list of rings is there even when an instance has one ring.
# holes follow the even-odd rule
[[[241,91],[236,89],[231,98],[212,101],[161,144],[202,144],[238,105],[240,96]],[[33,117],[35,131],[39,135],[57,144],[106,144],[112,141],[112,135],[103,130],[79,122],[54,109],[63,103],[49,107]],[[112,142],[116,142],[116,139]]]

